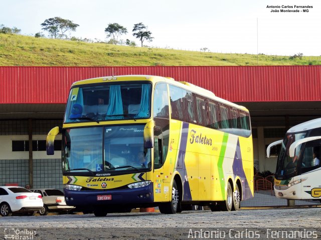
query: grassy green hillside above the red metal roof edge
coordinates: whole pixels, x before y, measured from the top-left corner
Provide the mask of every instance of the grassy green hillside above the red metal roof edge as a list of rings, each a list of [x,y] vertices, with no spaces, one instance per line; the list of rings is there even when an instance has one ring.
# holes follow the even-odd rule
[[[259,65],[316,65],[321,56],[258,56]],[[257,55],[35,38],[0,33],[2,66],[257,65]]]

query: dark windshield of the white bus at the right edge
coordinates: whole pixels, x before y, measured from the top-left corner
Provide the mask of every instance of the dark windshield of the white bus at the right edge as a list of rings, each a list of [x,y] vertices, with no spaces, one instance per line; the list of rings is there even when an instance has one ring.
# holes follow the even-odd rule
[[[280,154],[277,158],[277,165],[276,165],[276,172],[275,172],[275,176],[277,177],[277,179],[288,179],[296,175],[297,164],[300,159],[300,153],[301,153],[303,144],[295,148],[294,157],[289,156],[289,148],[294,141],[304,138],[305,135],[306,135],[306,132],[290,133],[285,135],[285,138],[282,142]]]

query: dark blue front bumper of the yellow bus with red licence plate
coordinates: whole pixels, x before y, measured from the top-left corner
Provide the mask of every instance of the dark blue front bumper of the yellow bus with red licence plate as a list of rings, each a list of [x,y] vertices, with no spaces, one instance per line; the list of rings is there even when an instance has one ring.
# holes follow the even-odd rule
[[[107,189],[107,190],[68,190],[64,189],[67,205],[112,205],[112,204],[143,204],[154,200],[153,186]]]

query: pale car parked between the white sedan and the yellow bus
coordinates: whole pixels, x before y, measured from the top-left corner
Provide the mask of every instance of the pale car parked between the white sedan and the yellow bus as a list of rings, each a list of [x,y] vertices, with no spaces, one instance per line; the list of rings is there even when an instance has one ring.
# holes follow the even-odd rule
[[[30,190],[42,195],[44,206],[39,210],[40,215],[47,215],[49,211],[69,212],[75,208],[66,204],[64,193],[59,189],[35,188]]]

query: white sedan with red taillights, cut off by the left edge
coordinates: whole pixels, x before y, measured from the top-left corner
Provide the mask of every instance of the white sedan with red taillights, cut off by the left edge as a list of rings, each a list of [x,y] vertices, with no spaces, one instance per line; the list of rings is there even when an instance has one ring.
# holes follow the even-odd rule
[[[44,206],[42,196],[20,186],[0,186],[0,213],[11,216],[13,213],[36,214]]]

